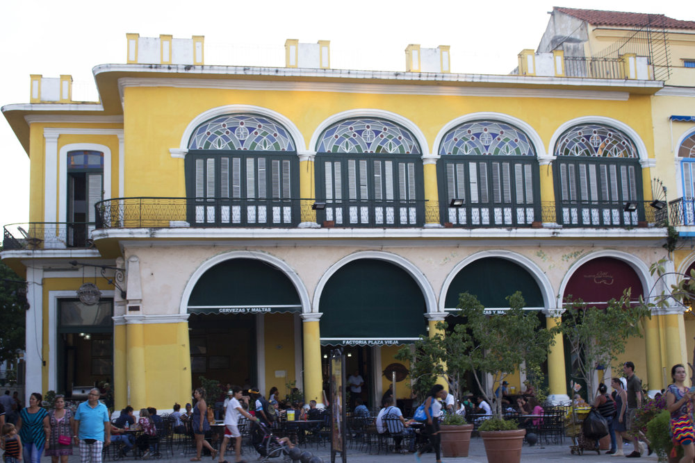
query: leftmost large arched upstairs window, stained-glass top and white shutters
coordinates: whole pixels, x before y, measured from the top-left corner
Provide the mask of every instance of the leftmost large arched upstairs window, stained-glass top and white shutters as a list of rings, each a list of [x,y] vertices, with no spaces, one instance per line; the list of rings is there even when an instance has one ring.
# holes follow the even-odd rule
[[[200,124],[188,142],[188,220],[201,226],[299,223],[299,160],[277,121],[223,115]]]

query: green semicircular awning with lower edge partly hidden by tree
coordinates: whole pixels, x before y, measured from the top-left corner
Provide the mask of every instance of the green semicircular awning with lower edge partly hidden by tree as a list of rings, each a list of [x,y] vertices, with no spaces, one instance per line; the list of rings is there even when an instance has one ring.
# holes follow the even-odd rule
[[[484,258],[466,265],[452,280],[445,298],[445,310],[457,310],[459,294],[468,292],[494,313],[509,308],[506,297],[521,291],[525,308],[543,308],[543,294],[531,273],[512,260]]]

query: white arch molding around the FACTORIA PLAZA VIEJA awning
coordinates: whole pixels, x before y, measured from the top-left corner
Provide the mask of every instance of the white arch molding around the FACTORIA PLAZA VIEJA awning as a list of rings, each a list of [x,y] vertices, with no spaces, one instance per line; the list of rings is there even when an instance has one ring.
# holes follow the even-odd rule
[[[338,262],[333,264],[331,267],[329,267],[329,269],[327,269],[323,273],[320,280],[318,281],[318,285],[316,285],[316,291],[313,295],[313,303],[311,305],[312,313],[320,313],[318,311],[318,308],[321,301],[321,294],[323,292],[324,287],[326,286],[326,283],[328,283],[328,280],[331,279],[334,273],[336,273],[336,271],[345,266],[345,264],[353,262],[354,260],[362,259],[383,260],[384,262],[390,262],[391,264],[395,264],[396,266],[406,271],[411,276],[411,278],[413,278],[413,280],[416,281],[418,287],[420,287],[420,291],[423,292],[423,296],[425,296],[425,306],[427,308],[427,313],[429,314],[432,312],[436,312],[436,297],[434,296],[432,285],[430,285],[430,282],[427,281],[427,278],[425,278],[423,272],[420,271],[420,269],[418,269],[418,267],[416,267],[412,262],[405,258],[402,258],[400,255],[387,253],[384,251],[358,251],[356,253],[352,253],[350,255],[345,256],[341,260],[338,260]]]

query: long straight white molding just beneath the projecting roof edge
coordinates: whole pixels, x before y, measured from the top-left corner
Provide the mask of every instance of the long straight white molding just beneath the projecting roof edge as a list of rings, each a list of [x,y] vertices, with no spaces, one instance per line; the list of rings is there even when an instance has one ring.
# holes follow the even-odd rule
[[[351,76],[355,78],[355,76]],[[487,76],[482,76],[487,77]],[[499,77],[499,76],[495,76]],[[415,79],[412,79],[415,80]],[[578,79],[589,81],[589,79]],[[593,80],[593,79],[591,79]],[[429,82],[429,81],[428,81]],[[176,88],[221,88],[226,90],[272,90],[286,92],[340,92],[340,93],[368,93],[368,94],[413,94],[413,95],[439,95],[439,96],[486,96],[486,97],[518,97],[518,98],[563,98],[563,99],[590,99],[590,100],[616,100],[627,101],[629,92],[608,90],[564,90],[547,88],[512,88],[496,87],[502,83],[489,79],[480,79],[471,82],[489,83],[486,87],[461,87],[455,85],[442,85],[439,81],[432,85],[418,84],[393,84],[393,83],[350,83],[337,82],[287,82],[287,81],[250,81],[237,79],[200,79],[200,78],[136,78],[123,77],[118,79],[118,89],[123,98],[124,87],[176,87]],[[605,87],[606,81],[601,81]],[[624,81],[620,81],[624,83]],[[546,82],[547,84],[547,82]],[[555,82],[556,85],[567,85]],[[575,85],[572,85],[575,86]],[[596,85],[586,84],[586,87]],[[614,86],[614,85],[608,85]]]

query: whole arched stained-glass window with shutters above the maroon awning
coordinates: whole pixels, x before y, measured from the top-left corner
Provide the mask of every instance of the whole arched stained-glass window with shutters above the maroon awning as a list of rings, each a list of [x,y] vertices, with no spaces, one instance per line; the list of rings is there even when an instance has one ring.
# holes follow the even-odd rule
[[[602,124],[580,124],[555,145],[557,220],[564,226],[636,226],[644,220],[635,144]]]

